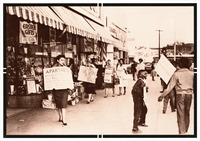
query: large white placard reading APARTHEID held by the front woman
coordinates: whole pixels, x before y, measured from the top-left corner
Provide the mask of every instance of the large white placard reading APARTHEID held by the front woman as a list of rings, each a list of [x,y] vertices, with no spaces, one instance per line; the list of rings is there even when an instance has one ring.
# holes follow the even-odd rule
[[[72,72],[68,67],[45,68],[43,74],[45,90],[74,88]]]

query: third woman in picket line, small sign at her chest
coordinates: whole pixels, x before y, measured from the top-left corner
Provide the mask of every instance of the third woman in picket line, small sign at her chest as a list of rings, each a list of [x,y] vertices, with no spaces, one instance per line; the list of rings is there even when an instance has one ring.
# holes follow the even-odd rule
[[[113,80],[114,74],[115,74],[115,69],[114,69],[114,67],[112,67],[111,60],[109,59],[106,62],[106,66],[105,66],[104,82],[106,84],[106,88],[105,88],[105,96],[104,96],[104,98],[108,97],[108,93],[107,92],[108,92],[109,88],[112,88],[112,91],[113,91],[112,97],[115,96],[115,87],[114,87],[114,82],[113,82],[114,81]]]

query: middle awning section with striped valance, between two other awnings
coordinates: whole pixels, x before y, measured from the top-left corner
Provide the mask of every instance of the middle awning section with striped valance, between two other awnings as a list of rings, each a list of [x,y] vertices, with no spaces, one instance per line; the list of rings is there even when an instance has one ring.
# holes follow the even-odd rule
[[[81,15],[62,6],[51,6],[51,8],[65,22],[68,32],[93,39],[100,38]]]

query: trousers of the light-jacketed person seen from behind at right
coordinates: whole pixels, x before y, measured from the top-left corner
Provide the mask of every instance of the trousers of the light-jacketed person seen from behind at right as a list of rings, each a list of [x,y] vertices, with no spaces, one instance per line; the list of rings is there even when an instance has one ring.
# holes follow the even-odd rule
[[[185,134],[190,124],[190,107],[192,103],[191,94],[177,94],[177,122],[179,134]]]

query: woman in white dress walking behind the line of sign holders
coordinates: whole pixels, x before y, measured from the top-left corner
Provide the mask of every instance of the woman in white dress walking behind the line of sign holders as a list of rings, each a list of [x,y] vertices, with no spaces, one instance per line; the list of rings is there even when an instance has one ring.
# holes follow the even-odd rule
[[[117,76],[119,77],[119,94],[122,95],[122,88],[124,88],[123,95],[126,94],[126,87],[128,86],[127,76],[127,68],[123,65],[123,59],[119,59],[119,63],[117,65]]]

